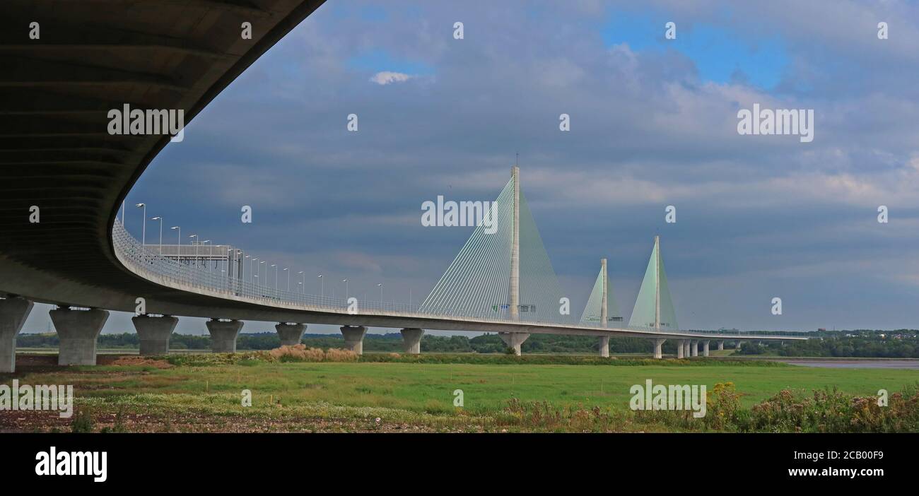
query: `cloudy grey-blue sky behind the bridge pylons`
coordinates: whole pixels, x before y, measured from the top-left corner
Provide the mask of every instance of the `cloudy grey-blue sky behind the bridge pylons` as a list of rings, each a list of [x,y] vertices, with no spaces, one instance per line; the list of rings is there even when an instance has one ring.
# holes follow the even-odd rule
[[[383,283],[407,302],[471,233],[423,227],[422,202],[493,200],[519,152],[578,313],[607,257],[628,321],[660,234],[682,328],[915,328],[917,21],[919,6],[896,1],[333,0],[191,122],[128,200],[305,271],[309,291],[323,274],[326,293],[347,277],[358,298]],[[738,134],[754,103],[813,109],[813,141]],[[140,237],[139,210],[127,223]],[[106,332],[130,329],[117,316]]]

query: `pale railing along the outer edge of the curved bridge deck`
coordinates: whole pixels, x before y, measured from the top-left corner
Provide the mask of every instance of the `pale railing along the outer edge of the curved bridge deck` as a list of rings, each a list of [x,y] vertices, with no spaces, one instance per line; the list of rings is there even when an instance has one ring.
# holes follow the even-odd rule
[[[331,298],[320,295],[312,295],[299,291],[289,291],[280,287],[270,287],[252,280],[243,280],[239,277],[228,276],[227,272],[215,269],[211,263],[199,265],[198,260],[179,261],[174,258],[168,258],[158,253],[158,250],[152,249],[152,245],[142,245],[133,236],[130,235],[124,227],[116,221],[112,227],[112,244],[115,247],[122,263],[130,265],[130,269],[140,275],[153,281],[162,280],[167,285],[173,284],[182,287],[192,287],[206,290],[209,292],[221,293],[223,297],[229,299],[247,299],[266,305],[276,306],[297,306],[311,307],[315,310],[328,310],[334,312],[348,312],[362,314],[424,314],[430,318],[445,319],[475,319],[481,321],[508,322],[517,323],[525,322],[535,325],[579,325],[581,327],[595,327],[593,322],[586,325],[579,322],[572,316],[571,321],[540,321],[535,313],[527,314],[520,312],[519,319],[512,321],[505,315],[495,315],[495,311],[470,310],[470,309],[437,309],[436,312],[422,312],[421,303],[417,305],[406,305],[390,301],[373,301],[368,299],[348,301],[348,298]],[[201,262],[204,262],[202,259]],[[277,282],[276,282],[277,284]],[[596,322],[596,327],[600,328],[600,322]],[[630,329],[635,331],[653,332],[652,327],[635,327],[623,326],[618,323],[610,323],[609,327],[618,329]],[[702,333],[702,332],[698,332]],[[717,332],[706,332],[717,336]],[[733,333],[736,336],[739,333]]]

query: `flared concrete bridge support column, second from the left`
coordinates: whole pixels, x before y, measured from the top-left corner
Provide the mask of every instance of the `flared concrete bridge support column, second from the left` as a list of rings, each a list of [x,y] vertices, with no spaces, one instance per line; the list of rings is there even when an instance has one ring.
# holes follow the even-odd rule
[[[49,312],[61,344],[58,365],[96,365],[96,338],[108,321],[108,310],[70,310]]]

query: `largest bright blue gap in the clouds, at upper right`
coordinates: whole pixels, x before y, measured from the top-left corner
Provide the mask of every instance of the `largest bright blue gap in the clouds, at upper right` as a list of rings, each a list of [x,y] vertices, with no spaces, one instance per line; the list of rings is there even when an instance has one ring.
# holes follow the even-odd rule
[[[676,39],[665,39],[665,25],[676,23]],[[732,28],[689,25],[663,14],[614,14],[601,28],[604,44],[629,45],[632,51],[678,51],[696,64],[702,79],[715,83],[743,82],[772,89],[789,65],[779,37],[751,39]]]

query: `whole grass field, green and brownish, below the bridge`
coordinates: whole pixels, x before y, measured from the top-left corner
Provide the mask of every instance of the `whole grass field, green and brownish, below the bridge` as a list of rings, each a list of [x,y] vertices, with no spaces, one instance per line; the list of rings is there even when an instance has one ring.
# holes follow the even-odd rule
[[[782,389],[807,396],[813,389],[836,388],[873,397],[879,389],[893,392],[919,381],[915,370],[902,369],[668,362],[593,366],[241,360],[171,366],[162,360],[125,357],[113,365],[93,367],[25,366],[17,378],[28,384],[73,384],[77,410],[92,411],[98,425],[130,423],[128,430],[142,431],[364,431],[387,426],[539,430],[507,418],[514,399],[542,403],[547,412],[593,411],[613,417],[604,429],[664,430],[630,420],[632,385],[651,379],[664,385],[704,384],[711,391],[717,383],[732,382],[740,393],[740,406],[750,408]],[[9,384],[10,378],[0,382]],[[462,408],[454,406],[457,389],[462,391]],[[244,390],[251,391],[251,407],[242,405]],[[67,428],[63,420],[45,413],[14,420],[0,415],[0,428]],[[550,430],[581,430],[569,427]]]

